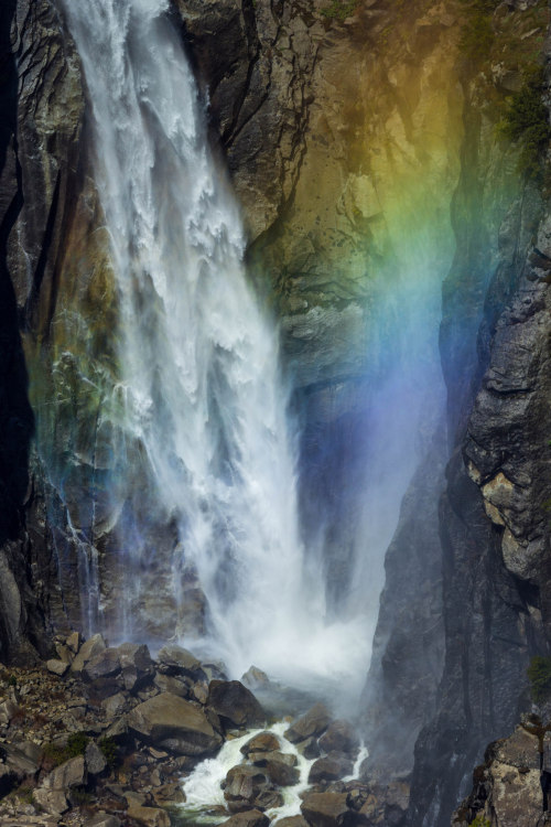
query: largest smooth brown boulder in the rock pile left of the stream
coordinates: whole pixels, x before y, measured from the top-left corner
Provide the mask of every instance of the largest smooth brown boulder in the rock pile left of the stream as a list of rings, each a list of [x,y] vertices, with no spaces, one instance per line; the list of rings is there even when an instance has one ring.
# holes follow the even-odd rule
[[[139,704],[127,722],[140,740],[179,755],[204,755],[222,744],[202,709],[169,692]]]

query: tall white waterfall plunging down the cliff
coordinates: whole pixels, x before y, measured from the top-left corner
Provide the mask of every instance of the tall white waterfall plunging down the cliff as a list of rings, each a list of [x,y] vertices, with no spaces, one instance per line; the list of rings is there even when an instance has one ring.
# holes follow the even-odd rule
[[[183,572],[195,570],[212,654],[234,675],[253,663],[283,679],[331,674],[349,686],[353,672],[359,689],[363,622],[327,630],[322,567],[304,569],[278,335],[246,281],[239,214],[208,152],[169,2],[63,2],[91,101],[118,287],[121,509],[141,486],[119,632],[132,634],[140,567],[155,554],[139,527],[162,514],[177,533],[176,601]]]

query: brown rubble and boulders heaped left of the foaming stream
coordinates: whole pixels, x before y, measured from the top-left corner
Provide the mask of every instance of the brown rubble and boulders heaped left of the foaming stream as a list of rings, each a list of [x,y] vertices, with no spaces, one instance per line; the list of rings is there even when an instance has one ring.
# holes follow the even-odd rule
[[[56,638],[43,668],[0,670],[0,823],[170,827],[181,778],[228,731],[264,722],[255,696],[170,645]]]

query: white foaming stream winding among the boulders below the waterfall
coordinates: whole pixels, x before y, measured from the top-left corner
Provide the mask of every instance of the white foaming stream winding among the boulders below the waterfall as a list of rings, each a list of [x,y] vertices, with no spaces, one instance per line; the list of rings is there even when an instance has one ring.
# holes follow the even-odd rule
[[[226,805],[224,791],[220,787],[222,782],[233,766],[241,763],[244,756],[240,749],[247,743],[247,741],[250,741],[251,738],[260,732],[273,732],[273,734],[279,738],[281,752],[296,755],[296,767],[300,772],[300,777],[298,784],[294,786],[281,788],[281,793],[283,794],[283,806],[268,810],[267,815],[272,821],[279,820],[280,818],[300,815],[302,803],[300,794],[309,786],[307,777],[310,769],[314,763],[314,759],[305,759],[299,753],[294,744],[283,738],[283,732],[288,727],[288,723],[281,721],[266,730],[252,730],[241,738],[226,741],[216,758],[202,761],[184,782],[184,793],[186,797],[186,804],[183,807],[184,812],[193,813],[195,816],[194,820],[196,821],[202,820],[202,812],[205,821],[213,823],[216,820],[225,820],[228,817],[227,813],[220,814],[219,818],[208,814],[209,808]]]

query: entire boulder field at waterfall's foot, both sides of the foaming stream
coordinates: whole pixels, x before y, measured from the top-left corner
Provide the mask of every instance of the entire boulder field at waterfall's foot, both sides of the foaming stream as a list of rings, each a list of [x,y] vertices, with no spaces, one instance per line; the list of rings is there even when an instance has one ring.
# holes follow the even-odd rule
[[[147,646],[109,647],[101,635],[56,638],[42,668],[0,668],[0,824],[170,827],[183,776],[266,722],[246,686],[180,646],[153,659]],[[304,783],[290,743],[312,765],[302,816],[280,827],[401,824],[408,787],[345,781],[357,735],[316,704],[283,738],[261,731],[241,747],[223,783],[227,827],[268,827],[285,790]]]

